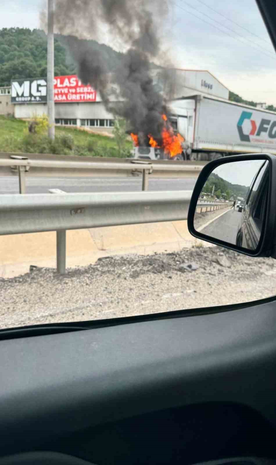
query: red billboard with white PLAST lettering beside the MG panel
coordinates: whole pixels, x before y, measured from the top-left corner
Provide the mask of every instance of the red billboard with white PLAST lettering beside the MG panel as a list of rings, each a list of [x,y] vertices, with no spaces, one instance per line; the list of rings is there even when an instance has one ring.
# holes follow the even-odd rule
[[[84,86],[76,75],[54,78],[55,103],[95,102],[96,97],[96,91],[91,86]]]

